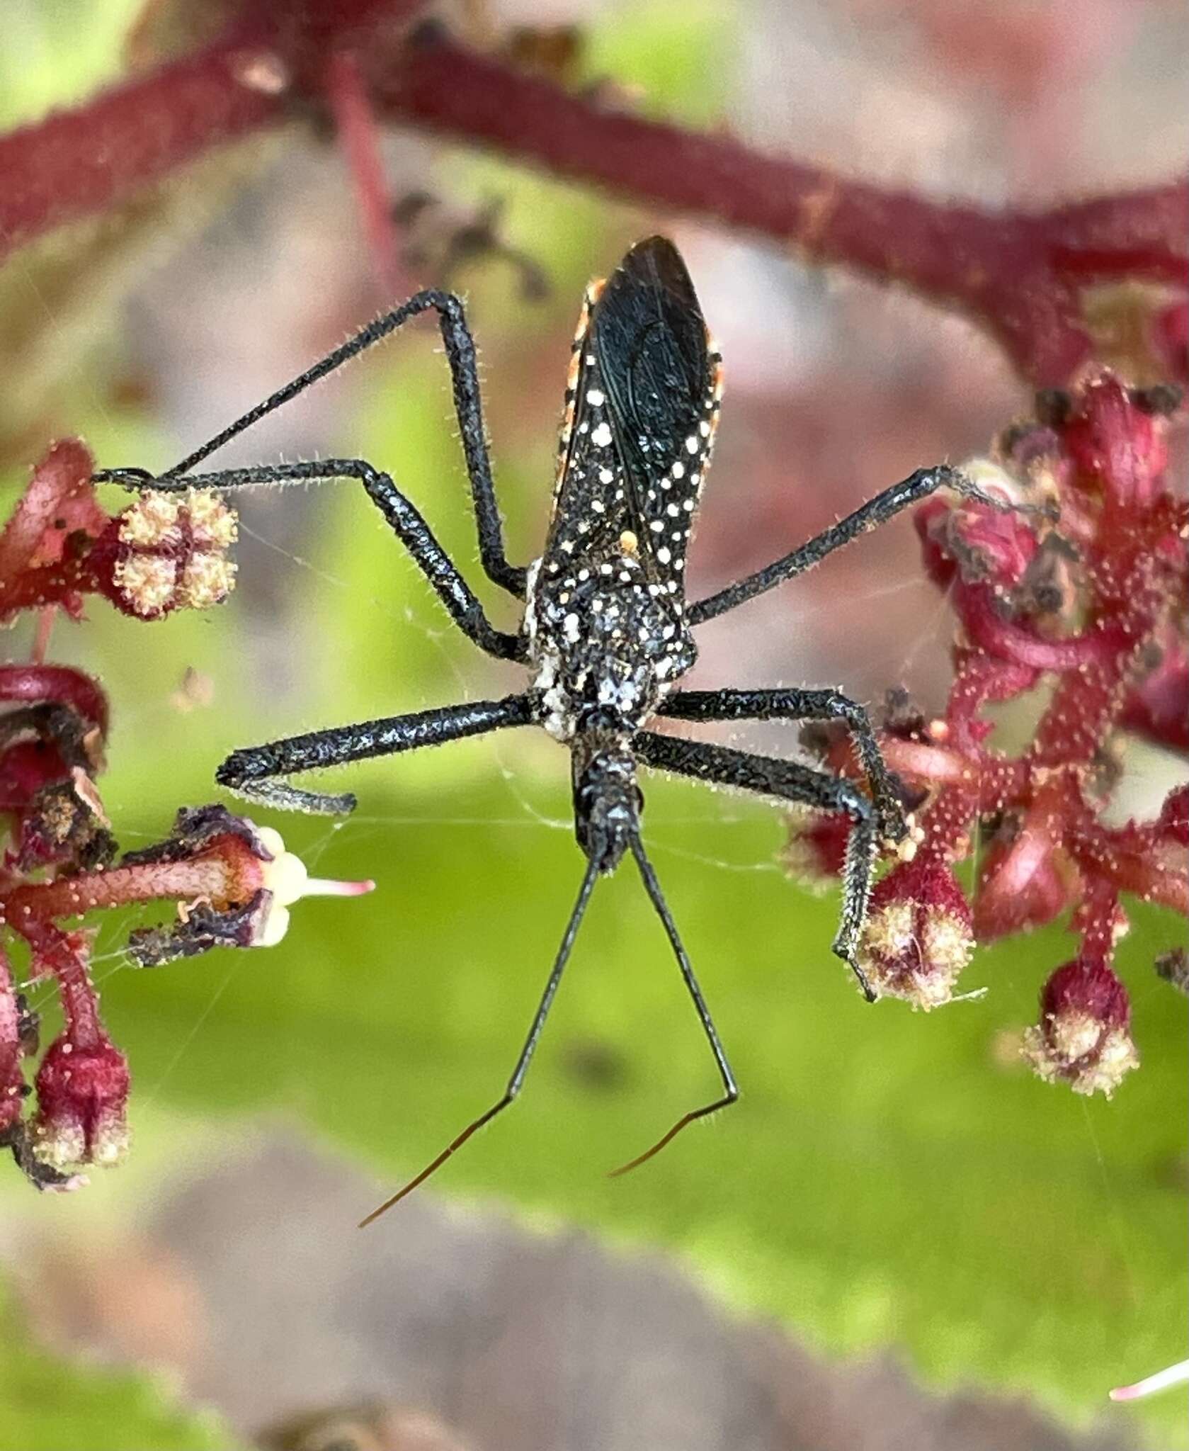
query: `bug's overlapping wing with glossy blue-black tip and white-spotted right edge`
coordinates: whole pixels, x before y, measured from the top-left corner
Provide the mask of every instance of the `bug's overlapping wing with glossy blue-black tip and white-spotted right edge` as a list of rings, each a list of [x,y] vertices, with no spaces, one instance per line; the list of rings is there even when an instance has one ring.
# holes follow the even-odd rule
[[[637,244],[599,296],[593,353],[652,577],[680,579],[718,421],[719,358],[677,248]]]

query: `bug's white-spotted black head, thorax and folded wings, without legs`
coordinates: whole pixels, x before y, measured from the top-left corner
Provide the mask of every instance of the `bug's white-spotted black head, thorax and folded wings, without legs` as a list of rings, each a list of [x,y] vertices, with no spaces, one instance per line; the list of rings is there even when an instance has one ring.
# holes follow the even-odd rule
[[[587,289],[525,640],[542,724],[573,750],[579,842],[603,871],[638,831],[632,739],[697,654],[686,550],[721,379],[673,247],[644,244]]]

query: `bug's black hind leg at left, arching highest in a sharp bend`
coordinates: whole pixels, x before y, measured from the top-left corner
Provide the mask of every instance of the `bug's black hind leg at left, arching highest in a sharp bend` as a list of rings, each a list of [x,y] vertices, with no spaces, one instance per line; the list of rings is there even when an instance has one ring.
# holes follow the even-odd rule
[[[277,392],[270,398],[265,398],[262,403],[257,403],[255,408],[249,408],[248,412],[236,418],[233,424],[228,424],[222,432],[209,438],[200,448],[196,448],[191,454],[183,459],[181,463],[174,464],[165,477],[175,477],[187,473],[194,467],[194,464],[202,463],[203,459],[209,459],[216,448],[222,448],[225,443],[238,437],[246,428],[251,428],[252,424],[260,422],[261,418],[267,416],[283,403],[297,398],[299,393],[304,393],[304,390],[313,383],[326,377],[328,373],[334,373],[335,369],[348,363],[351,358],[365,353],[370,347],[380,342],[381,338],[396,332],[396,329],[406,324],[410,318],[416,318],[419,313],[429,309],[438,313],[438,326],[442,334],[442,342],[445,344],[447,361],[450,363],[450,379],[454,389],[454,412],[458,418],[458,431],[463,438],[463,454],[467,460],[467,477],[470,479],[471,486],[471,502],[474,505],[476,527],[478,530],[478,553],[483,560],[483,569],[493,583],[500,585],[519,599],[523,599],[526,572],[508,563],[508,556],[505,554],[503,547],[503,525],[500,522],[499,506],[496,505],[496,489],[492,480],[492,461],[487,454],[487,432],[483,427],[483,400],[478,387],[478,367],[476,361],[474,340],[471,338],[470,328],[467,326],[467,315],[463,311],[463,303],[454,296],[454,293],[438,292],[431,287],[425,292],[416,293],[392,312],[386,312],[383,316],[374,318],[367,324],[367,326],[360,328],[352,338],[348,338],[347,342],[335,348],[334,353],[328,353],[326,357],[315,363],[313,367],[306,369],[304,373],[294,377],[290,383],[286,383],[284,387],[277,389]]]

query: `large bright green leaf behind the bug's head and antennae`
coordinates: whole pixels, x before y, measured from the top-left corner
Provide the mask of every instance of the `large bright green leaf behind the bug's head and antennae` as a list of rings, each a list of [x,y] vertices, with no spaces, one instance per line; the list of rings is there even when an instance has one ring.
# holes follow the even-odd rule
[[[303,903],[290,940],[116,972],[112,1029],[154,1109],[284,1109],[396,1187],[500,1093],[580,876],[564,757],[532,734],[452,747],[432,798],[390,788],[335,833],[278,823],[374,897]],[[600,884],[525,1093],[435,1181],[663,1245],[751,1315],[832,1352],[899,1348],[938,1386],[1027,1392],[1076,1422],[1179,1354],[1185,1322],[1183,1004],[1151,972],[1179,924],[1138,910],[1122,950],[1144,1068],[1086,1103],[1015,1064],[1057,932],[977,955],[986,1000],[864,1006],[831,958],[834,901],[768,869],[774,813],[651,784],[648,840],[742,1100],[625,1180],[606,1170],[716,1091],[629,869]],[[1012,1037],[1014,1040],[1014,1037]],[[599,1071],[587,1066],[594,1062]],[[226,1132],[232,1132],[228,1126]],[[178,1161],[186,1146],[175,1145]],[[368,1204],[360,1204],[365,1212]],[[371,1233],[399,1233],[399,1210]],[[1169,1400],[1134,1407],[1183,1445]]]

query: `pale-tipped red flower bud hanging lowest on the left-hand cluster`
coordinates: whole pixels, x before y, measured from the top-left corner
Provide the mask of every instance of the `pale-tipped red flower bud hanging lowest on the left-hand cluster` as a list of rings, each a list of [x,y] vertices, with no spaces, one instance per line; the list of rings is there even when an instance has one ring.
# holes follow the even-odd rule
[[[36,1158],[55,1170],[117,1164],[128,1151],[128,1061],[109,1039],[81,1045],[64,1033],[51,1043],[36,1078]]]

